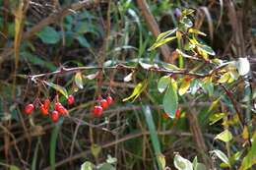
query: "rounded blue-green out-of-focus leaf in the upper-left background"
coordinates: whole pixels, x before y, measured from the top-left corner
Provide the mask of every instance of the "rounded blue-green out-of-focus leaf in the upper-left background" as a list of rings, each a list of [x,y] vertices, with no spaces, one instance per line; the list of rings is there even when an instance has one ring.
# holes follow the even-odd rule
[[[37,36],[46,44],[55,44],[60,40],[60,34],[51,27],[41,29],[41,31],[37,33]]]

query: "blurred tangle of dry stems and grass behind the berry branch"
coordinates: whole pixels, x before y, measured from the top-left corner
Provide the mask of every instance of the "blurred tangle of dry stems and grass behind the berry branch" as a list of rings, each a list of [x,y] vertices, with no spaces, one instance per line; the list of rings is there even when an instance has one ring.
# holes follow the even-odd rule
[[[208,169],[255,168],[255,7],[252,0],[0,0],[0,169],[72,170],[86,161],[105,169],[160,169],[163,155],[174,169],[179,154],[191,161],[197,155]],[[45,81],[56,83],[57,78],[74,94],[70,116],[54,124],[38,111],[24,114],[36,97],[55,95],[53,88],[38,86],[26,75],[64,67],[136,66],[138,61],[180,66],[175,42],[148,51],[160,32],[177,27],[177,8],[195,9],[193,28],[208,34],[201,40],[223,61],[246,57],[250,74],[224,88],[208,85],[184,94],[178,119],[162,116],[158,73],[136,72],[125,82],[129,70],[104,70],[99,76],[97,70],[86,70],[79,90],[74,74],[46,76]],[[183,62],[185,69],[209,72],[204,64]],[[146,75],[147,90],[133,102],[123,102]],[[98,81],[90,80],[94,76]],[[114,104],[94,119],[98,94],[109,92]],[[231,137],[217,136],[222,132]]]

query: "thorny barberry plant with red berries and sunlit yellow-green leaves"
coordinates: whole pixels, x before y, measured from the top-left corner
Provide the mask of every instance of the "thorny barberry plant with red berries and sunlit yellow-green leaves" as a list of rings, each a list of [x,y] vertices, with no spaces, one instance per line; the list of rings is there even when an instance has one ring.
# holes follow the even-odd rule
[[[163,61],[148,62],[146,59],[139,59],[134,65],[127,63],[114,64],[111,66],[104,67],[76,67],[76,68],[61,68],[52,73],[40,74],[28,76],[28,78],[37,85],[45,85],[55,89],[56,95],[53,101],[54,106],[49,106],[49,101],[40,105],[40,112],[43,115],[50,115],[53,122],[57,122],[59,116],[69,115],[68,110],[59,102],[59,95],[62,94],[67,99],[68,105],[73,105],[75,98],[73,95],[69,95],[65,87],[57,85],[55,83],[45,81],[45,78],[49,76],[60,76],[65,74],[74,74],[74,84],[77,89],[82,89],[84,87],[84,80],[96,80],[99,82],[99,73],[104,70],[126,70],[130,74],[124,77],[124,82],[132,81],[137,73],[147,73],[141,82],[135,85],[133,92],[130,96],[124,98],[122,101],[134,101],[139,96],[145,92],[151,85],[150,77],[153,77],[156,73],[160,78],[158,78],[158,90],[162,93],[162,117],[164,119],[179,119],[182,106],[179,104],[181,101],[185,102],[185,94],[191,94],[194,96],[207,95],[215,102],[219,102],[222,97],[222,93],[225,93],[227,99],[230,100],[235,115],[238,118],[238,123],[241,125],[241,131],[248,134],[246,140],[249,144],[250,149],[248,149],[246,156],[244,156],[241,162],[241,167],[249,167],[252,163],[248,163],[248,160],[253,158],[255,153],[255,141],[252,143],[251,137],[255,138],[255,134],[251,135],[249,126],[246,124],[243,115],[237,109],[237,104],[232,97],[232,92],[228,89],[228,85],[236,85],[239,82],[246,82],[246,75],[250,71],[249,62],[246,58],[239,58],[237,61],[224,61],[218,58],[216,52],[205,43],[202,37],[206,36],[206,33],[198,30],[193,25],[193,12],[192,9],[185,9],[178,14],[178,25],[177,28],[172,28],[170,30],[160,33],[156,42],[149,48],[149,51],[153,51],[160,47],[161,45],[172,42],[176,44],[176,49],[172,52],[170,56],[172,61],[178,58],[178,63],[166,63]],[[189,65],[188,65],[189,63]],[[86,76],[84,71],[86,70],[96,70],[93,75]],[[142,74],[143,75],[143,74]],[[156,76],[156,75],[155,75]],[[101,78],[100,78],[101,79]],[[139,80],[139,79],[138,79]],[[101,87],[100,85],[97,85]],[[219,90],[215,90],[219,89]],[[221,92],[218,92],[221,91]],[[100,118],[103,115],[103,111],[113,103],[113,98],[107,91],[106,98],[101,97],[101,93],[98,92],[96,96],[96,101],[94,102],[92,116],[95,118]],[[48,110],[52,108],[51,112]],[[27,114],[32,114],[34,109],[33,104],[29,104],[25,108]],[[147,110],[147,109],[146,109]],[[182,114],[183,115],[183,114]],[[214,114],[211,115],[212,124],[223,120],[227,114]],[[150,119],[147,119],[149,124],[153,124]],[[153,131],[151,129],[150,131]],[[152,133],[154,135],[154,133]],[[222,142],[230,142],[232,140],[232,134],[225,129],[223,133],[219,134],[215,140]],[[153,143],[155,144],[155,143]],[[254,147],[252,147],[254,145]],[[156,147],[157,148],[157,147]],[[156,150],[155,150],[156,151]],[[158,153],[160,151],[158,150]],[[222,161],[224,167],[232,167],[236,162],[235,160],[228,159],[224,152],[221,150],[214,150],[212,153],[217,155]],[[255,154],[254,154],[255,155]],[[255,158],[255,157],[254,157]],[[176,167],[181,167],[181,164],[191,167],[191,163],[182,157],[177,157]],[[160,169],[165,167],[162,165],[162,156],[158,154],[158,165]],[[179,168],[182,169],[182,168]]]

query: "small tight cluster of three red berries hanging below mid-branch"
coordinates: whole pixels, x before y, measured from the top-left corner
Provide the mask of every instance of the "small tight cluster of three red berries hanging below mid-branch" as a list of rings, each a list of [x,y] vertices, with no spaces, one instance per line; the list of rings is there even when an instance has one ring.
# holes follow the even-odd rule
[[[110,104],[112,104],[113,98],[109,95],[106,99],[102,98],[99,100],[98,105],[94,107],[92,112],[93,117],[101,117],[103,114],[103,109],[107,109]]]

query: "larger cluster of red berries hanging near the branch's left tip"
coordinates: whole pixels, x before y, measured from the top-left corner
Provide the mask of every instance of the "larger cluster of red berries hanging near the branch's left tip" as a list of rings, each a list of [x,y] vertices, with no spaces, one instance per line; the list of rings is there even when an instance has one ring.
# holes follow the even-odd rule
[[[68,104],[69,105],[72,105],[74,104],[75,102],[75,98],[73,95],[69,95],[68,96]],[[58,122],[59,120],[59,116],[67,116],[68,115],[68,110],[60,103],[60,102],[55,102],[54,103],[54,110],[51,112],[51,114],[49,114],[49,107],[50,107],[50,103],[51,101],[46,98],[43,100],[43,102],[39,102],[39,110],[40,110],[40,113],[43,115],[43,116],[50,116],[52,122],[56,123]],[[28,104],[26,105],[25,107],[25,113],[30,115],[32,114],[34,110],[34,104]]]

